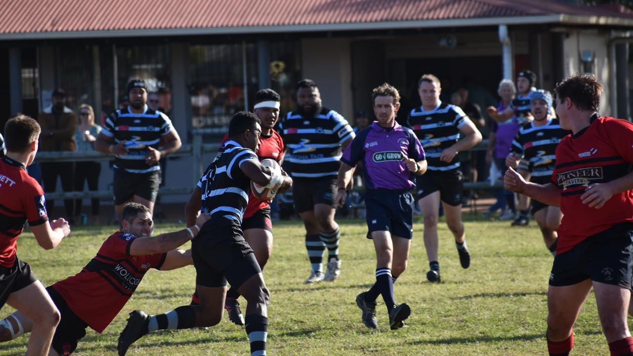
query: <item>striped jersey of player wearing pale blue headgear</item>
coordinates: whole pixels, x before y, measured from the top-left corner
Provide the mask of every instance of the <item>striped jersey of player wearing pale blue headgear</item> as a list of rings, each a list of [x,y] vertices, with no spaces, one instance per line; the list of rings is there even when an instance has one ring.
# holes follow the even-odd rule
[[[547,124],[523,125],[512,141],[511,153],[517,153],[529,163],[530,181],[547,184],[556,166],[556,146],[571,132],[560,127],[558,118],[549,118]]]

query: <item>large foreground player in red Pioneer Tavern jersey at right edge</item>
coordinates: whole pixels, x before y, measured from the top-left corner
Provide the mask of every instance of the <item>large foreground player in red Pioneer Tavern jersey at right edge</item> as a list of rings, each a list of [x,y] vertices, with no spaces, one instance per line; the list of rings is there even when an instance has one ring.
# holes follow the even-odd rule
[[[558,247],[549,277],[549,355],[568,355],[573,324],[593,287],[611,355],[632,355],[627,324],[633,270],[633,124],[598,117],[603,85],[572,75],[554,89],[560,126],[572,134],[556,148],[548,184],[525,182],[512,168],[506,189],[560,206]]]

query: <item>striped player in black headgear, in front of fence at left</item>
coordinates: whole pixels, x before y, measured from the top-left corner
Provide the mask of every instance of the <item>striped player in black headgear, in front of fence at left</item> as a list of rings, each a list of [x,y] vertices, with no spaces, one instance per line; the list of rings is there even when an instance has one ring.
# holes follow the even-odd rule
[[[153,214],[161,182],[158,161],[182,146],[167,115],[147,106],[144,80],[130,81],[127,95],[130,105],[111,113],[94,143],[97,151],[116,156],[113,193],[118,217],[130,201],[145,205]]]

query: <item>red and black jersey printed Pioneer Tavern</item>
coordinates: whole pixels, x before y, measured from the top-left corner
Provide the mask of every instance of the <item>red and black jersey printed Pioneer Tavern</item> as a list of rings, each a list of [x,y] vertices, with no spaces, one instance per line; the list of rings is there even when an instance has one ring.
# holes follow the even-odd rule
[[[556,148],[552,182],[561,195],[563,220],[558,227],[558,248],[563,253],[584,239],[611,226],[633,221],[633,191],[614,194],[602,208],[589,208],[580,200],[587,186],[606,183],[630,172],[633,163],[633,124],[594,115],[591,124],[564,137]]]

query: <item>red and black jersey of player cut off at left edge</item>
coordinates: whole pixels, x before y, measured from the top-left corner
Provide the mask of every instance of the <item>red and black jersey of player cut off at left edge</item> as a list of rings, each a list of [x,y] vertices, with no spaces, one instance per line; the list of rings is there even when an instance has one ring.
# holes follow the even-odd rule
[[[44,191],[20,162],[0,159],[0,265],[15,262],[15,241],[24,223],[37,226],[48,221]]]

